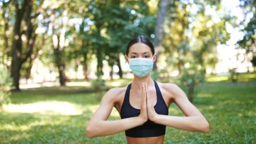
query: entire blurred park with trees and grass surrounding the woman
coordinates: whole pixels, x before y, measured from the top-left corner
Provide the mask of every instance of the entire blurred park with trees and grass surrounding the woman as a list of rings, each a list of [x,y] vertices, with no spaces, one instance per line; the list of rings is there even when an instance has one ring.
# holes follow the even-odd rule
[[[210,123],[167,128],[164,143],[255,143],[255,5],[1,0],[0,143],[125,143],[85,129],[104,93],[132,81],[124,55],[137,35],[158,53],[153,79],[180,86]],[[184,116],[175,104],[169,115]]]

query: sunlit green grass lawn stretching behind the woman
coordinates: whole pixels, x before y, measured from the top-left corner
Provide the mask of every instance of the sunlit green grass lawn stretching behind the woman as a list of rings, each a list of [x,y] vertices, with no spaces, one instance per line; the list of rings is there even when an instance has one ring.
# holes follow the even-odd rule
[[[244,77],[255,80],[254,76]],[[255,143],[253,80],[236,84],[213,80],[202,83],[194,99],[194,105],[210,123],[210,132],[167,127],[165,143]],[[121,80],[121,85],[127,82],[130,80]],[[107,85],[119,84],[110,81]],[[12,103],[0,112],[0,143],[126,143],[124,132],[86,137],[86,124],[102,94],[83,86],[31,88],[13,93]],[[169,115],[184,116],[175,104],[171,104]],[[113,110],[109,119],[119,119],[118,112]]]

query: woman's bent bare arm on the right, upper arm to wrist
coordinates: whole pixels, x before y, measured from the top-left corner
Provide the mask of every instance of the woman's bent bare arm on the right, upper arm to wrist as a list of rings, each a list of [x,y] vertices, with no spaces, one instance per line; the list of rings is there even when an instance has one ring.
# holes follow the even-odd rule
[[[205,117],[203,117],[202,113],[190,103],[181,88],[173,84],[167,85],[167,91],[170,92],[169,94],[173,95],[174,102],[178,105],[179,109],[183,111],[186,117],[158,115],[156,112],[152,112],[152,116],[148,116],[149,119],[152,118],[152,121],[155,123],[167,125],[173,128],[207,133],[209,131],[209,124]],[[148,106],[148,112],[154,110],[149,107],[152,106]]]

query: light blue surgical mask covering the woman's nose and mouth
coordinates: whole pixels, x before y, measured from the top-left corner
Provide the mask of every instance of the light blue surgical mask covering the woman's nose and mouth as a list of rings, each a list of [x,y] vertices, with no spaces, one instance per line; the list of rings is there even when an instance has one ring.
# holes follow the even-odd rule
[[[153,69],[153,58],[130,58],[129,64],[132,73],[141,78],[147,76]]]

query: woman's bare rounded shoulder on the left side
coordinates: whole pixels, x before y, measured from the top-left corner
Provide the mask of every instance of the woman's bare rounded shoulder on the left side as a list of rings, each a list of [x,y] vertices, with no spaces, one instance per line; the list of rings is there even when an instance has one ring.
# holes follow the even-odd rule
[[[118,101],[120,99],[120,97],[122,95],[125,94],[126,92],[126,88],[127,86],[125,87],[117,87],[117,88],[110,88],[107,93],[103,96],[102,98],[102,102],[103,101],[108,101],[108,102],[113,102],[115,103],[116,101]]]

